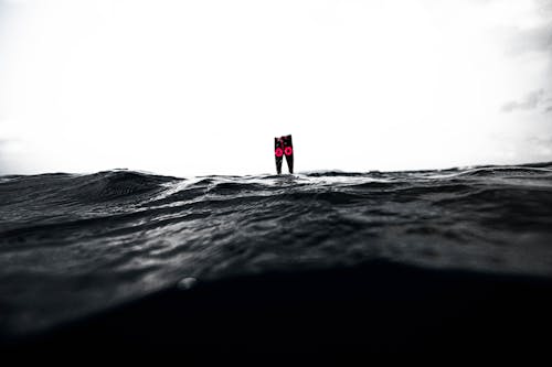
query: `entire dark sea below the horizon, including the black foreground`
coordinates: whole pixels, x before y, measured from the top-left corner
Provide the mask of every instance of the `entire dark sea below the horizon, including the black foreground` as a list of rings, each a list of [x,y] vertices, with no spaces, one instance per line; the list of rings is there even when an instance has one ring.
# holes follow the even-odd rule
[[[552,163],[0,176],[0,349],[542,350]]]

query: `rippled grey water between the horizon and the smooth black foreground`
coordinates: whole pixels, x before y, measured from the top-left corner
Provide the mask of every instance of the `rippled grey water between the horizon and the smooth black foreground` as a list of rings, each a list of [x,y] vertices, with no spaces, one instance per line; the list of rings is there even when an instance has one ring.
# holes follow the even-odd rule
[[[160,290],[371,261],[552,279],[552,163],[282,176],[0,177],[3,341],[47,333]]]

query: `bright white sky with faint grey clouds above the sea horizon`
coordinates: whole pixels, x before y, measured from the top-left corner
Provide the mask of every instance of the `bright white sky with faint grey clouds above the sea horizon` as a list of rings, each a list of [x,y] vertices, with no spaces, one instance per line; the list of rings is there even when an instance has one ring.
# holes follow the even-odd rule
[[[0,0],[0,174],[272,173],[288,133],[298,172],[552,161],[552,0]]]

